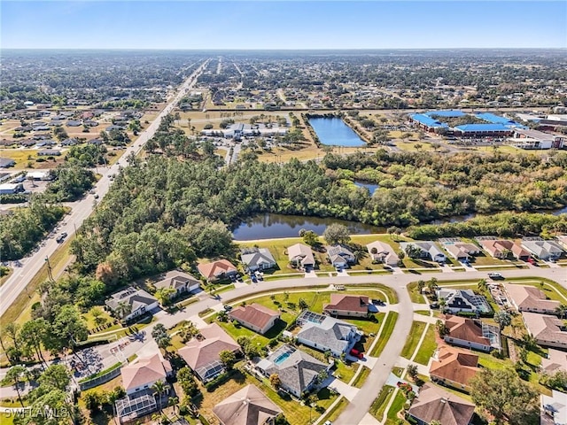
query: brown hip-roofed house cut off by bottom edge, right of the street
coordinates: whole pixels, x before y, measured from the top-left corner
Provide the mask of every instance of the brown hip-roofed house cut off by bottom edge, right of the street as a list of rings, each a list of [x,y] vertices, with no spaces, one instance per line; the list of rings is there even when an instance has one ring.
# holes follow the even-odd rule
[[[417,425],[430,425],[438,421],[443,425],[469,425],[475,405],[431,383],[423,384],[408,410]]]

